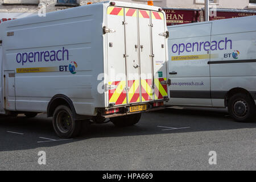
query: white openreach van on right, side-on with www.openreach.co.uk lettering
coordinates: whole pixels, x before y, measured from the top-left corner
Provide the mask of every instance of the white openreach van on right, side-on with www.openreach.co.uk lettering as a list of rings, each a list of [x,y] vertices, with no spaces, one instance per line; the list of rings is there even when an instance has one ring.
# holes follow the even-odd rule
[[[256,16],[168,27],[170,101],[228,107],[251,121],[256,101]]]

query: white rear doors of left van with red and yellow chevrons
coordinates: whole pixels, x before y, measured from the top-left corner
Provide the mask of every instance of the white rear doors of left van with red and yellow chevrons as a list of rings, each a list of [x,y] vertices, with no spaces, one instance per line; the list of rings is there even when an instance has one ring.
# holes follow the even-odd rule
[[[106,20],[109,105],[168,97],[164,14],[109,6]]]

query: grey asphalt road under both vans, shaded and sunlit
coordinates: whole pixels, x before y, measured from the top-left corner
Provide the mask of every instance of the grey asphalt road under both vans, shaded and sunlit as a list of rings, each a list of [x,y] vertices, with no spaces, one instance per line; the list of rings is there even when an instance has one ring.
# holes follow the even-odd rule
[[[135,126],[93,124],[61,140],[45,114],[3,117],[0,170],[255,170],[255,121],[234,122],[223,109],[171,108],[143,113]],[[210,151],[217,164],[209,164]]]

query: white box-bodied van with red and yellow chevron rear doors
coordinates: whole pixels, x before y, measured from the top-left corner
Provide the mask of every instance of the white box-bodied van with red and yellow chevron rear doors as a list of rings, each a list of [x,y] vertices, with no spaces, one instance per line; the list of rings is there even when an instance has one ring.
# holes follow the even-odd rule
[[[3,22],[0,113],[46,112],[63,138],[134,125],[168,100],[167,37],[162,9],[115,1]]]

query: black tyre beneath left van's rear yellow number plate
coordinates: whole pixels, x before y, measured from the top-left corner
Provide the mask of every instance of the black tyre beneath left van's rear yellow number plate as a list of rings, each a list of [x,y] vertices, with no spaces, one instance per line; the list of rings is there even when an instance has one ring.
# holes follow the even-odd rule
[[[139,119],[141,119],[141,113],[110,118],[110,121],[117,127],[126,127],[135,125]]]

